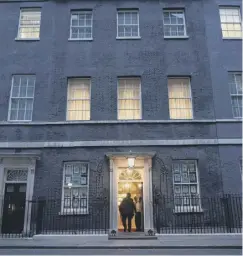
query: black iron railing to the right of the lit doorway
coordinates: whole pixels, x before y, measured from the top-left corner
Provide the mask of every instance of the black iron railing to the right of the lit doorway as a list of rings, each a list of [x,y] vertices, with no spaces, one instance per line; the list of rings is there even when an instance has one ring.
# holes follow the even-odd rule
[[[180,202],[180,204],[178,204]],[[161,197],[154,202],[157,233],[241,233],[242,197],[214,198]]]

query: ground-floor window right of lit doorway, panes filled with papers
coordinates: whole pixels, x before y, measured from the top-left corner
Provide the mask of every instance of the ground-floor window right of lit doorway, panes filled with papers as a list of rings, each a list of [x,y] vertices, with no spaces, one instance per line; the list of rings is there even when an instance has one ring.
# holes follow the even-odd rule
[[[177,211],[190,211],[200,206],[197,163],[195,160],[176,160],[172,165],[174,204]]]

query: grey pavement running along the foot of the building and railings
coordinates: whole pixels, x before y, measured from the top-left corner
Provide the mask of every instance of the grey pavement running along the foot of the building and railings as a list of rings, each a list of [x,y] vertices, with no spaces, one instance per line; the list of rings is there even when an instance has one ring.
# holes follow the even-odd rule
[[[35,235],[1,238],[0,249],[242,249],[242,234],[163,234],[157,240],[108,240],[107,235]]]

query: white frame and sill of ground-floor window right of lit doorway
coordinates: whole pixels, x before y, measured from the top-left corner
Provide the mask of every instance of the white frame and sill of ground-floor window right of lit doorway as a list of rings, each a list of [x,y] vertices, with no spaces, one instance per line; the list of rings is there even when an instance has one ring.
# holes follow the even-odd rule
[[[186,162],[194,162],[195,164],[195,169],[196,169],[196,179],[197,182],[178,182],[175,183],[174,181],[174,169],[173,166],[175,163],[179,163],[179,164],[183,164]],[[190,213],[190,212],[202,212],[202,205],[201,205],[201,191],[200,191],[200,180],[199,180],[199,172],[198,172],[198,161],[194,160],[194,159],[174,159],[172,161],[172,179],[173,179],[173,196],[174,196],[174,200],[175,200],[175,185],[196,185],[197,186],[197,191],[198,191],[198,205],[193,206],[193,205],[188,205],[188,206],[176,206],[174,204],[174,212],[175,213],[180,213],[180,212],[185,212],[185,213]],[[182,194],[182,193],[181,193]],[[182,199],[183,200],[183,199]],[[191,199],[190,199],[191,201]]]

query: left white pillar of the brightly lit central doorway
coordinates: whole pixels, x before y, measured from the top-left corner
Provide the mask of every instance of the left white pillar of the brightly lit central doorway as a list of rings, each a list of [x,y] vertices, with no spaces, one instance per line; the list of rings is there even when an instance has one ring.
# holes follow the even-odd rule
[[[117,207],[117,171],[115,161],[110,159],[110,228],[109,234],[117,235],[118,231]]]

